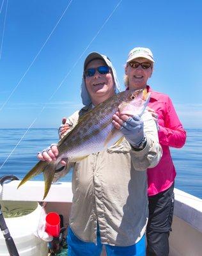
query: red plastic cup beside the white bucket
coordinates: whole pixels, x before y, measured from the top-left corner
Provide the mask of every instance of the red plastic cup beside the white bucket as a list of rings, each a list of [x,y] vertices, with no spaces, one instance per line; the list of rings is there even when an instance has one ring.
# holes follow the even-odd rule
[[[45,231],[50,236],[59,236],[60,218],[57,212],[49,212],[45,217]]]

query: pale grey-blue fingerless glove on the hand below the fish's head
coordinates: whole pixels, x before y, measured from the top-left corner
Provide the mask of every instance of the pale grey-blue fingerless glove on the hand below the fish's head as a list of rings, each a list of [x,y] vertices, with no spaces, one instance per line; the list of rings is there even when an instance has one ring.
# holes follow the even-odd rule
[[[144,123],[139,115],[130,116],[123,123],[120,131],[123,133],[127,141],[133,146],[138,147],[144,139]]]

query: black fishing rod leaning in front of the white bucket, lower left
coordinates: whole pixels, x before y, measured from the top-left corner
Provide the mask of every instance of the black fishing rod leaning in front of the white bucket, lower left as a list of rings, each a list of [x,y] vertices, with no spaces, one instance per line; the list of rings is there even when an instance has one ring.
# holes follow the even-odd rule
[[[13,238],[10,236],[10,232],[8,227],[6,226],[6,221],[4,220],[3,212],[1,211],[1,204],[0,204],[0,229],[3,232],[3,236],[6,240],[6,246],[8,248],[8,252],[10,256],[19,256],[17,252],[17,248],[13,241]]]

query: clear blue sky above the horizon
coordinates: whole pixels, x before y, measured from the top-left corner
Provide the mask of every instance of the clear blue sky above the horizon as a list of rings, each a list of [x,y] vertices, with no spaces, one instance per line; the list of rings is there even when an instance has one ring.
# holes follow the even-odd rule
[[[111,58],[124,89],[123,65],[137,46],[153,51],[153,90],[171,97],[185,127],[201,127],[202,1],[0,0],[0,8],[2,3],[0,128],[33,122],[58,127],[82,106],[82,65],[92,51]]]

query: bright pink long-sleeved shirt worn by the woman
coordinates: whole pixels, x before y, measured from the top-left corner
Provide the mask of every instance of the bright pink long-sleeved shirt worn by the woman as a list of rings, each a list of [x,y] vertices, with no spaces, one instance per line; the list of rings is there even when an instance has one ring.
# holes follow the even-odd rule
[[[148,92],[151,92],[148,106],[158,114],[159,143],[163,151],[159,164],[147,170],[148,195],[152,196],[168,189],[173,184],[176,171],[169,147],[183,147],[186,132],[180,123],[171,99],[164,93],[153,92],[150,86],[147,88]]]

